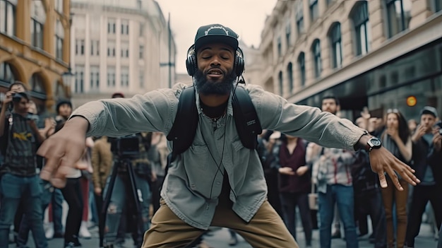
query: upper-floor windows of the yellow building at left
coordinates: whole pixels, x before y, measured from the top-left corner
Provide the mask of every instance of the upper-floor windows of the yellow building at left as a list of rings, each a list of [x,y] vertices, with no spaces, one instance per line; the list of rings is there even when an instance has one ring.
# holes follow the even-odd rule
[[[16,11],[18,0],[0,0],[0,33],[8,36],[16,36]],[[63,12],[63,1],[55,1],[55,10]],[[44,23],[46,12],[42,1],[32,1],[30,9],[30,42],[33,47],[43,49]],[[64,27],[60,20],[55,25],[55,57],[63,59]]]

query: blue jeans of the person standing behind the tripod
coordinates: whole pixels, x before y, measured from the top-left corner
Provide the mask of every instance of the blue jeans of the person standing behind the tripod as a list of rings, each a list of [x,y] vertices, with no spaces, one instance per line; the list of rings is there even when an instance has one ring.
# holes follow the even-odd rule
[[[141,198],[143,199],[143,201],[140,202],[142,216],[138,216],[138,218],[143,219],[143,230],[137,230],[138,235],[133,235],[133,237],[136,239],[134,242],[140,243],[139,245],[141,245],[141,242],[143,242],[143,232],[149,228],[149,207],[151,196],[147,179],[135,174],[135,183],[137,189],[139,190],[138,194],[141,193]],[[108,186],[109,180],[106,185],[106,189],[104,189],[104,196],[107,194],[107,190],[109,190]],[[126,196],[129,197],[126,198]],[[112,196],[109,201],[109,206],[107,207],[105,226],[107,227],[108,232],[104,234],[104,244],[114,244],[115,240],[117,239],[121,213],[123,213],[124,208],[127,207],[127,203],[131,203],[131,201],[133,201],[131,196],[132,192],[129,177],[127,177],[127,175],[117,175],[114,182],[114,188],[112,189]],[[133,211],[129,213],[133,213]],[[136,225],[136,223],[133,223],[132,225]]]

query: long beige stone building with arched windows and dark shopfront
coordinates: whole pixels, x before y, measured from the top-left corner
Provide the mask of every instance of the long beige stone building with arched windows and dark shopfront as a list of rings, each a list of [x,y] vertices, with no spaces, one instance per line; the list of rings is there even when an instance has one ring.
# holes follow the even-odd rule
[[[341,100],[345,117],[442,110],[441,0],[277,1],[265,20],[263,87],[290,102]],[[411,98],[410,98],[411,97]],[[407,99],[415,99],[407,102]]]

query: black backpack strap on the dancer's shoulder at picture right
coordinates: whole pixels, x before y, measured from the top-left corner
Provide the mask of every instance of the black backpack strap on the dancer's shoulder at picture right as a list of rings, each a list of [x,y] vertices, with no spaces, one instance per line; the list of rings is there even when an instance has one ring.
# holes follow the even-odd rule
[[[258,134],[263,132],[249,92],[237,87],[232,98],[233,117],[241,143],[249,149],[258,147]]]

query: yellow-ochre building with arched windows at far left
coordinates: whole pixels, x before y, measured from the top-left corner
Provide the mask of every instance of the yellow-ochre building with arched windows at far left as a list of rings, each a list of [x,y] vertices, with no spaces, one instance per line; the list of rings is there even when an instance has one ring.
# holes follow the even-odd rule
[[[70,0],[0,0],[0,91],[28,86],[40,113],[70,98]]]

